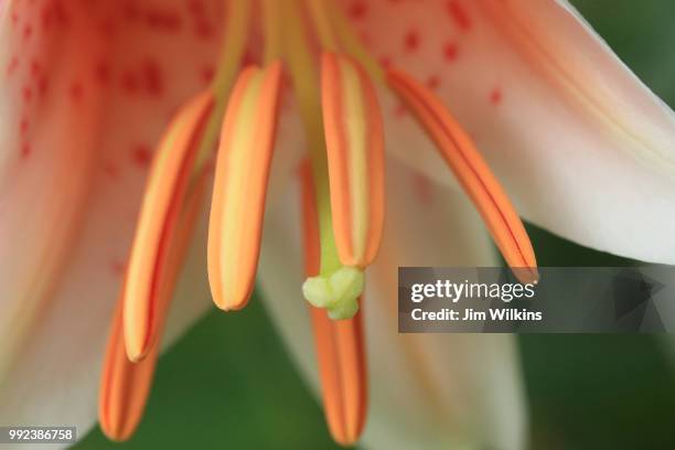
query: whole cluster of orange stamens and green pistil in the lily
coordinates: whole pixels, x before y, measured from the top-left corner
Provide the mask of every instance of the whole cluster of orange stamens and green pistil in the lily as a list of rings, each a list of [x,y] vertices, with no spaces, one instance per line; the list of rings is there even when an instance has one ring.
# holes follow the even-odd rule
[[[538,277],[534,251],[461,125],[428,87],[401,71],[379,67],[332,0],[260,0],[259,10],[249,0],[227,4],[214,81],[179,110],[154,157],[106,360],[101,424],[118,438],[138,424],[182,260],[181,235],[194,216],[190,212],[199,204],[216,140],[208,280],[218,308],[246,306],[258,265],[285,69],[308,148],[301,173],[308,276],[302,293],[313,307],[326,420],[335,440],[350,444],[363,430],[367,404],[358,307],[384,224],[383,119],[374,83],[410,109],[525,282]],[[261,12],[264,61],[239,71],[255,11]],[[129,406],[129,393],[142,398]]]

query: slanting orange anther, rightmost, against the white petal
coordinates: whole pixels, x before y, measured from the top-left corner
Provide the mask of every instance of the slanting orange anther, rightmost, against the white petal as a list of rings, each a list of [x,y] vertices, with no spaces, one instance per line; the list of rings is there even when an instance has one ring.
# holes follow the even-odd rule
[[[522,282],[536,282],[537,262],[525,227],[471,138],[425,85],[396,69],[389,69],[386,77],[438,146],[514,275]]]

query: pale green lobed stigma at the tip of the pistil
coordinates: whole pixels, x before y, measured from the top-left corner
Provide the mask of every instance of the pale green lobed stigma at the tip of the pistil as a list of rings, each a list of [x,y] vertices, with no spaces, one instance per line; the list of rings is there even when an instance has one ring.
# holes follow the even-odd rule
[[[307,301],[325,308],[333,320],[351,319],[358,312],[358,297],[363,293],[365,277],[355,267],[341,267],[330,276],[308,278],[302,285]]]

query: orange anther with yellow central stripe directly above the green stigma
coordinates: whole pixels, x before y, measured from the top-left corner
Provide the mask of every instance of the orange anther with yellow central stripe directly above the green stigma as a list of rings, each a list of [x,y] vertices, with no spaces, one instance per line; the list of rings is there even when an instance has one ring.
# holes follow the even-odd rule
[[[343,265],[363,268],[384,224],[379,105],[368,76],[346,56],[324,53],[321,82],[335,244]]]

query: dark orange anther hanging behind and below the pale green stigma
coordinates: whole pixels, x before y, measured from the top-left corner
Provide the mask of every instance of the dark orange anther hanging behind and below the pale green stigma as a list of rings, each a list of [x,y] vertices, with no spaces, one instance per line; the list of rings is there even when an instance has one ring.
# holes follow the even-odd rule
[[[302,204],[304,264],[308,276],[312,276],[319,272],[319,224],[312,178],[307,165],[302,172]],[[326,422],[333,439],[350,446],[358,440],[367,410],[361,314],[335,321],[325,310],[310,308]]]

